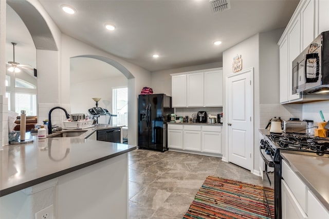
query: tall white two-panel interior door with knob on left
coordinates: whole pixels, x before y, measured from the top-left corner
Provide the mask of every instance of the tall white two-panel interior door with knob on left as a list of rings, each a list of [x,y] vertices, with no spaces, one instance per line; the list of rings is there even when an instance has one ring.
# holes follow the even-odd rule
[[[253,164],[253,69],[227,76],[228,161],[248,170]]]

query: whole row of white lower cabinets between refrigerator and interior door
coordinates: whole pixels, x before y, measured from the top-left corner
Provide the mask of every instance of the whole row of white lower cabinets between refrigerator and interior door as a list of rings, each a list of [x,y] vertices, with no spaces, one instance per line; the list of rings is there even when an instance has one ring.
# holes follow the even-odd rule
[[[220,154],[222,127],[168,124],[168,148]]]

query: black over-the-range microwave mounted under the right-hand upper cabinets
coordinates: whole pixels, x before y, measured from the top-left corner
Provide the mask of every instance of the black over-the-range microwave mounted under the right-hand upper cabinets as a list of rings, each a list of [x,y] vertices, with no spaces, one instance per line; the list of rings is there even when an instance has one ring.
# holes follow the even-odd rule
[[[293,61],[293,94],[329,93],[329,31],[322,32]]]

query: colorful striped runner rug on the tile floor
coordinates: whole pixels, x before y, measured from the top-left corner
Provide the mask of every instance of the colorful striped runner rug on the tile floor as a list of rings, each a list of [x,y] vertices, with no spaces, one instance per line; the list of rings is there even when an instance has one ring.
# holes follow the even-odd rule
[[[208,176],[183,218],[274,218],[274,189]]]

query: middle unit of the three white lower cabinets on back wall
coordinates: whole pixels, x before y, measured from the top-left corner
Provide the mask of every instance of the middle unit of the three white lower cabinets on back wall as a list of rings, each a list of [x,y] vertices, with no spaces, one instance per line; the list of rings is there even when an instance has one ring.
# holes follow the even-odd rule
[[[185,125],[183,140],[184,150],[201,151],[201,126]]]

